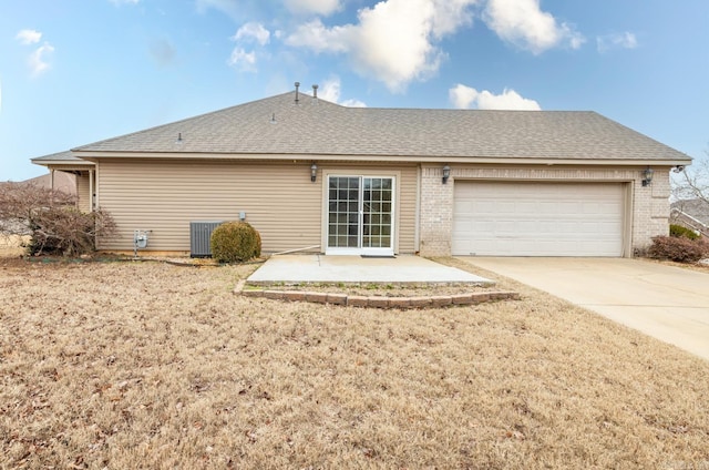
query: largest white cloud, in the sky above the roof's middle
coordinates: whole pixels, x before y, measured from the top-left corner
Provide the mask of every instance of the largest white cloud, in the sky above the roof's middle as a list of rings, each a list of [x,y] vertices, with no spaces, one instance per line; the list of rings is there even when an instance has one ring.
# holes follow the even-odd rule
[[[354,70],[403,91],[439,69],[444,53],[434,40],[472,21],[477,0],[384,0],[358,12],[359,23],[327,28],[319,19],[286,39],[315,52],[348,54]]]

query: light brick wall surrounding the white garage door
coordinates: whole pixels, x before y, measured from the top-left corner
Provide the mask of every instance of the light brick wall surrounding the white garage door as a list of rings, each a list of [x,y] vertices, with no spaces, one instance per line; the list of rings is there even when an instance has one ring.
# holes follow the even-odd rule
[[[669,219],[669,168],[655,168],[653,183],[643,186],[644,167],[492,167],[451,165],[451,178],[442,184],[442,165],[421,167],[422,256],[449,256],[453,229],[453,188],[455,181],[578,181],[627,183],[628,256],[645,249],[656,235],[667,235]]]

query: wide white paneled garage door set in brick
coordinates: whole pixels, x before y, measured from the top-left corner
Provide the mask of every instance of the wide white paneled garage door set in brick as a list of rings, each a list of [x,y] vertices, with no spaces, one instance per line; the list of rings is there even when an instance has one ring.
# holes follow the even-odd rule
[[[455,182],[453,255],[621,256],[615,183]]]

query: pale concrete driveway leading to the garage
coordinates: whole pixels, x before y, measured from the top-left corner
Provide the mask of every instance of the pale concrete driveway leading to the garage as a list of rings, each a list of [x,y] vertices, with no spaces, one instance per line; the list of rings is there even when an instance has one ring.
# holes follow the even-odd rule
[[[709,360],[709,274],[626,258],[460,259]]]

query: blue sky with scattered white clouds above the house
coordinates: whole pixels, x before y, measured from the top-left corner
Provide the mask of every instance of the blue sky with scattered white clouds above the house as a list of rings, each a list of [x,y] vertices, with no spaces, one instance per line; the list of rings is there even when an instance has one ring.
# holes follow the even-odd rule
[[[0,0],[0,181],[319,84],[345,105],[593,110],[709,147],[709,1]]]

